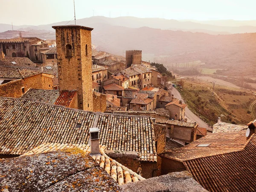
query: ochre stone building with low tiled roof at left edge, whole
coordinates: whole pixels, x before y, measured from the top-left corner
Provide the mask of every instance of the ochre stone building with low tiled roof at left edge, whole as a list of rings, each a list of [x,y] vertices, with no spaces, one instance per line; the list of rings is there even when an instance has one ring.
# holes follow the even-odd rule
[[[19,68],[0,72],[0,96],[20,98],[30,88],[53,89],[53,78],[51,74]]]

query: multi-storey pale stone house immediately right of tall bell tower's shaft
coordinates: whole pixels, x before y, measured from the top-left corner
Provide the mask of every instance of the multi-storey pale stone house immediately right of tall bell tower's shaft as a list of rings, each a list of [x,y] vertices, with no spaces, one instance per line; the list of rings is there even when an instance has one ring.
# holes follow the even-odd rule
[[[92,80],[99,84],[99,92],[103,89],[103,81],[108,79],[108,68],[99,65],[92,65]]]

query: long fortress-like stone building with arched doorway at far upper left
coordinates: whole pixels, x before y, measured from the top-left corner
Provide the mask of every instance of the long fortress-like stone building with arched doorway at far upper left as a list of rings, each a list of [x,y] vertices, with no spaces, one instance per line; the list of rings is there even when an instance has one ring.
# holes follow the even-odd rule
[[[3,51],[7,58],[25,57],[28,54],[32,61],[40,61],[41,47],[44,47],[44,41],[36,37],[0,39],[0,52]]]

